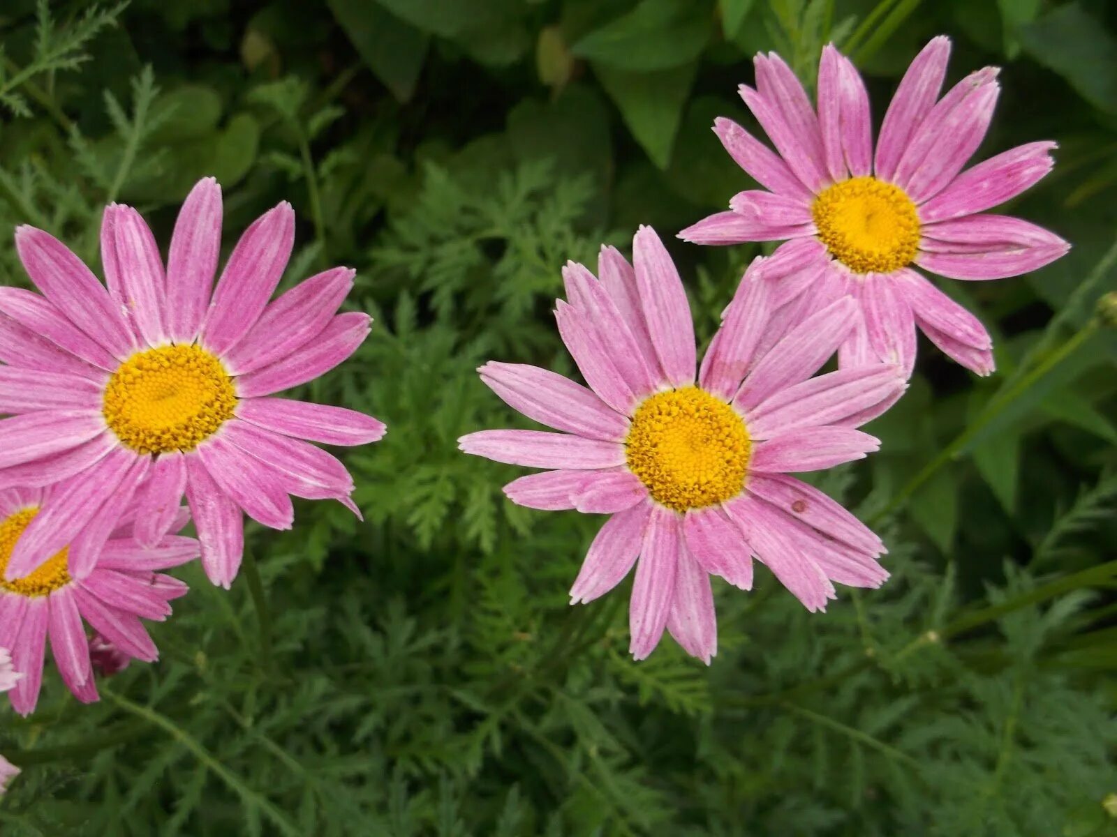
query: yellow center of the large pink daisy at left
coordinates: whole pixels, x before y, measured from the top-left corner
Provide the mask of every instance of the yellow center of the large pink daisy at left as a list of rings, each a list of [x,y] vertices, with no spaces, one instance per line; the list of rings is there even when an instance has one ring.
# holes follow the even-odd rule
[[[232,417],[237,392],[221,362],[194,345],[132,355],[105,387],[103,412],[137,453],[190,451]]]

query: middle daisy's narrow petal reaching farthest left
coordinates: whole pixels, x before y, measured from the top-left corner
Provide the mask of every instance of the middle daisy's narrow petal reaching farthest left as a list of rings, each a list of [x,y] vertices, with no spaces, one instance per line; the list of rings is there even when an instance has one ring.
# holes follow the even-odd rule
[[[528,468],[590,470],[624,464],[624,445],[537,430],[481,430],[458,440],[475,456]]]

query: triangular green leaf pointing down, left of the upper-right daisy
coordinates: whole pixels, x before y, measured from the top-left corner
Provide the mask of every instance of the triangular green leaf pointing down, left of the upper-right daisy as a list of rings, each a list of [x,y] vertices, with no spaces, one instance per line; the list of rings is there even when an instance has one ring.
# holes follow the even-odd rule
[[[617,103],[632,136],[660,169],[666,169],[671,160],[682,106],[697,68],[696,64],[688,64],[655,73],[630,73],[593,65],[601,86]]]

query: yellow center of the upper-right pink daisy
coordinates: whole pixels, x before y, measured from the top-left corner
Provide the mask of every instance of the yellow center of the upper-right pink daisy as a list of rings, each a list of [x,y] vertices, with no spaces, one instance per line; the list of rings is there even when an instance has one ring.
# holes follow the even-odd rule
[[[834,183],[811,206],[819,239],[855,273],[889,273],[910,264],[919,215],[904,190],[876,177]]]

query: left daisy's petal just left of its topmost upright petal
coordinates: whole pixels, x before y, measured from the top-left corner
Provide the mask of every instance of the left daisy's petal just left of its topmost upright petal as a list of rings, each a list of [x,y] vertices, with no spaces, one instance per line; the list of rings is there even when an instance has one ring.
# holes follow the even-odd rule
[[[149,346],[166,343],[163,311],[166,309],[166,278],[163,259],[151,228],[131,206],[117,205],[106,214],[116,244],[116,268],[128,314]]]

